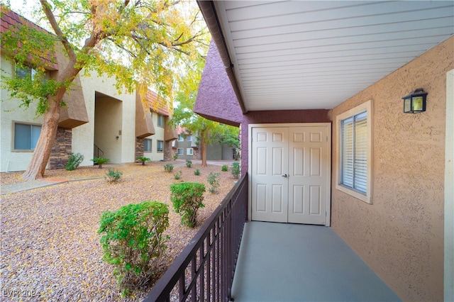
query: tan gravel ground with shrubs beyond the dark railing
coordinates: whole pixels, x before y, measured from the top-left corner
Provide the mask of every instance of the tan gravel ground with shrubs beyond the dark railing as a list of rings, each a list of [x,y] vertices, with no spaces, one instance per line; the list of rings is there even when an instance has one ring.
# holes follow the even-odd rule
[[[182,171],[175,180],[162,162],[140,164],[104,164],[103,169],[80,167],[75,171],[48,170],[45,179],[68,179],[69,182],[31,191],[1,196],[0,301],[138,301],[150,286],[121,298],[112,276],[113,267],[102,261],[99,243],[99,218],[104,211],[116,211],[129,203],[145,200],[169,204],[170,226],[167,254],[160,265],[161,274],[179,255],[228,191],[234,185],[230,169],[221,166],[201,167],[184,162],[166,162]],[[118,184],[103,179],[107,168],[123,172]],[[194,175],[200,169],[201,175]],[[206,182],[209,172],[220,174],[219,194],[211,194]],[[1,185],[20,183],[21,173],[1,174]],[[71,181],[75,179],[90,179]],[[196,228],[180,223],[170,202],[170,184],[196,181],[206,185],[205,208],[198,212]]]

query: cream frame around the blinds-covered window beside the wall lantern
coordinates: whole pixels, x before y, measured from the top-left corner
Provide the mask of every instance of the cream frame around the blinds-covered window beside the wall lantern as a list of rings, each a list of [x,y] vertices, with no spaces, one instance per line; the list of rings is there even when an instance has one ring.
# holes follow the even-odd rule
[[[366,179],[366,193],[363,194],[360,191],[356,191],[355,189],[351,189],[348,186],[345,186],[341,184],[341,179],[342,179],[342,147],[343,147],[343,142],[342,142],[342,121],[345,121],[348,118],[353,118],[353,116],[356,116],[360,113],[367,112],[367,138],[366,138],[366,144],[367,144],[367,179]],[[361,201],[364,201],[366,203],[372,204],[372,120],[373,120],[373,113],[372,113],[372,100],[366,101],[363,104],[360,104],[356,106],[355,108],[351,108],[348,111],[345,111],[344,113],[339,114],[336,116],[336,137],[337,137],[337,142],[336,142],[336,158],[337,158],[337,164],[336,164],[336,189],[339,191],[343,191],[346,194],[349,194],[350,196],[353,196],[355,198],[360,199]]]

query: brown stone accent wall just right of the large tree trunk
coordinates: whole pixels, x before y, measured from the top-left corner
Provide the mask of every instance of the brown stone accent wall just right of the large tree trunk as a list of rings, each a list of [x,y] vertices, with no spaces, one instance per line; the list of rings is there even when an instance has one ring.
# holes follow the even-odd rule
[[[72,130],[70,128],[57,128],[52,151],[50,152],[49,168],[65,169],[65,165],[72,152]]]

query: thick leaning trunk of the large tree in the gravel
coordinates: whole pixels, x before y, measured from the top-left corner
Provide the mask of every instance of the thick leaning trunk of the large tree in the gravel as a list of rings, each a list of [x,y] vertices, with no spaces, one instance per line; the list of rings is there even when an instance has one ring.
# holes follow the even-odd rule
[[[65,94],[65,91],[63,91]],[[52,145],[57,135],[58,120],[60,119],[60,101],[57,101],[59,94],[48,98],[49,108],[44,114],[41,134],[36,143],[35,150],[31,157],[26,172],[22,174],[25,180],[41,179],[44,176],[52,152]],[[62,97],[60,98],[60,100]]]

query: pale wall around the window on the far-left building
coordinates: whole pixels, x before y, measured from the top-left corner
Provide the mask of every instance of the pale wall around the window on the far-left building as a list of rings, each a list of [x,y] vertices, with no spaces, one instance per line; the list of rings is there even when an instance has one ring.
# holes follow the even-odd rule
[[[13,65],[5,60],[1,53],[1,74],[11,77]],[[0,79],[1,80],[1,79]],[[14,151],[14,122],[31,123],[41,125],[42,116],[35,116],[36,103],[30,104],[29,108],[20,108],[18,99],[11,99],[10,92],[0,89],[0,125],[1,125],[1,172],[23,171],[27,169],[31,160],[32,151]]]

